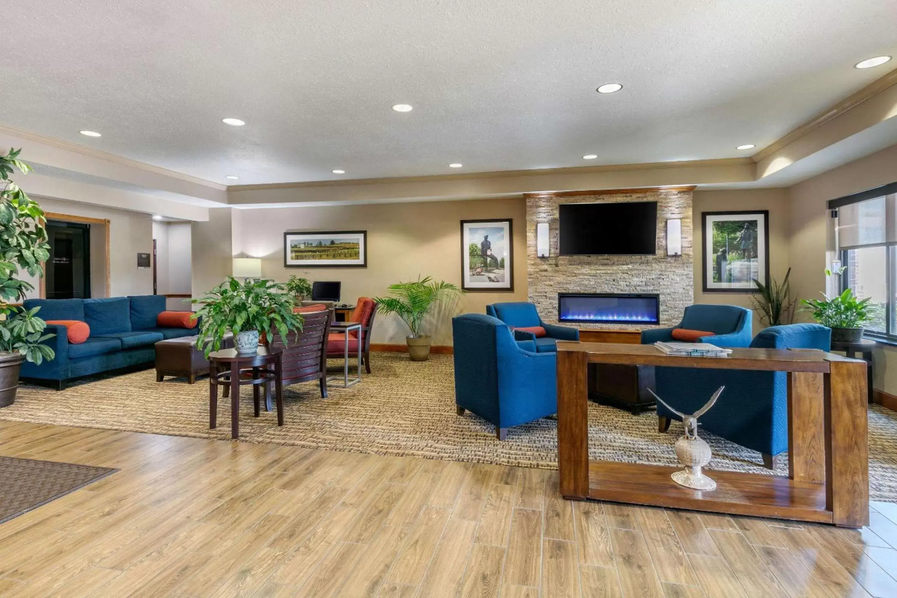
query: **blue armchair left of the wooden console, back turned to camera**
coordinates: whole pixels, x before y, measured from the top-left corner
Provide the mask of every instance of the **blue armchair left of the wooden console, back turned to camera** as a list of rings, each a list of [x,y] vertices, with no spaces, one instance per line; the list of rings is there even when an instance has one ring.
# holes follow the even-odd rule
[[[458,415],[479,415],[504,440],[510,427],[558,411],[554,353],[515,341],[507,325],[483,314],[452,318],[452,337]]]

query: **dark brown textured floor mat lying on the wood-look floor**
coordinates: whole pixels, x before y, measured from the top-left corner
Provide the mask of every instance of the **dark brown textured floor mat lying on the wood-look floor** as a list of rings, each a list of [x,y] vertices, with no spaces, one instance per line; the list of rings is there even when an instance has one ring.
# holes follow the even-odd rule
[[[118,470],[0,457],[0,524],[114,472]]]

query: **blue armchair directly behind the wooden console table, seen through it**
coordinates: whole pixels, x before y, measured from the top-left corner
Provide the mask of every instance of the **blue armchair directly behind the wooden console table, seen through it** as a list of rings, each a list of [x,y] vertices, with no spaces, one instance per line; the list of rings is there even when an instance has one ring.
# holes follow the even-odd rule
[[[759,349],[829,351],[832,329],[818,324],[771,326],[753,338]],[[712,359],[712,358],[707,358]],[[719,386],[726,390],[701,416],[701,428],[762,454],[773,469],[776,455],[788,450],[788,374],[738,369],[656,368],[658,396],[684,413],[696,412]],[[658,429],[679,419],[658,403]]]

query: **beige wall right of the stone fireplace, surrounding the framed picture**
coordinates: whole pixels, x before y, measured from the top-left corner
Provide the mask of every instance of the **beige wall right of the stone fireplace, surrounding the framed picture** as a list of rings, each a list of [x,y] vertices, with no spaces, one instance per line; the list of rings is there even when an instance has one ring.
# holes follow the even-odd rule
[[[787,189],[731,189],[722,191],[695,191],[692,194],[694,220],[694,302],[739,305],[753,308],[752,295],[748,293],[704,292],[701,277],[701,256],[704,251],[703,219],[701,212],[727,212],[742,210],[769,210],[770,212],[770,273],[782,280],[788,272],[788,190]],[[793,280],[791,273],[788,280]],[[800,292],[792,284],[795,296]],[[760,314],[754,311],[754,332],[766,327]]]

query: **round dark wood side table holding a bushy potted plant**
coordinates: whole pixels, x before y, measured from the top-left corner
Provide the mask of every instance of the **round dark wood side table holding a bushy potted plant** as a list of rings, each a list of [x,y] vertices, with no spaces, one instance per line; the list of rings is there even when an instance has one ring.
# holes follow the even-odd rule
[[[282,351],[270,351],[263,346],[259,346],[252,355],[239,355],[236,349],[209,353],[209,428],[217,426],[218,386],[230,387],[231,438],[236,439],[239,438],[239,387],[252,385],[252,399],[258,417],[261,386],[272,381],[277,403],[277,425],[283,426],[281,355]],[[240,376],[241,373],[243,376]]]

